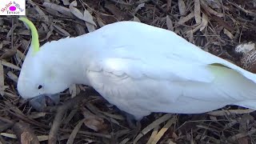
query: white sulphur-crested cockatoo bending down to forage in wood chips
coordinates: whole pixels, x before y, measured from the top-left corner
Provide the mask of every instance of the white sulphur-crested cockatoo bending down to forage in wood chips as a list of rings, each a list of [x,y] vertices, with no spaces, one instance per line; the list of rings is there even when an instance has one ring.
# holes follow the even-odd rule
[[[226,105],[256,110],[256,75],[187,42],[170,30],[115,22],[76,38],[32,42],[18,78],[22,98],[94,87],[141,119],[151,112],[198,114]]]

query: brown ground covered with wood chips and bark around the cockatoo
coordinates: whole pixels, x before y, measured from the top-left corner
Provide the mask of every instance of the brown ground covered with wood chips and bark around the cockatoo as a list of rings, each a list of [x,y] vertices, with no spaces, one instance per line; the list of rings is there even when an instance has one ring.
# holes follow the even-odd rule
[[[189,42],[240,66],[239,43],[255,39],[252,0],[28,0],[26,17],[38,28],[40,44],[75,37],[118,21],[138,21],[173,30]],[[129,41],[129,39],[127,39]],[[256,143],[256,113],[226,106],[208,114],[150,114],[141,130],[86,86],[62,94],[59,106],[38,112],[20,97],[18,74],[30,43],[18,17],[0,17],[1,143]],[[76,95],[70,99],[71,95]],[[76,105],[78,104],[78,105]],[[29,142],[32,141],[32,142]]]

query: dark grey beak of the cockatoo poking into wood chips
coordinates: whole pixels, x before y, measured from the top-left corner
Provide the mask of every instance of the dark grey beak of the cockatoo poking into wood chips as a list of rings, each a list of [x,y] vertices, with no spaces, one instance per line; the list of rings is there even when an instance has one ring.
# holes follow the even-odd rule
[[[59,103],[60,94],[42,94],[30,99],[30,105],[38,111],[42,111],[46,106],[54,106]]]

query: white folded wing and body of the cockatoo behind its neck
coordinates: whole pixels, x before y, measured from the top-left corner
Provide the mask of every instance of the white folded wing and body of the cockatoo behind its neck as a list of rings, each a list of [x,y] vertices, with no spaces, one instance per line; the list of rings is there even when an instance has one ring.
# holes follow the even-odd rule
[[[139,23],[130,30],[118,26],[98,30],[106,51],[91,59],[86,76],[106,100],[136,118],[150,112],[202,113],[256,94],[254,74],[177,34]],[[123,38],[115,36],[120,31]]]

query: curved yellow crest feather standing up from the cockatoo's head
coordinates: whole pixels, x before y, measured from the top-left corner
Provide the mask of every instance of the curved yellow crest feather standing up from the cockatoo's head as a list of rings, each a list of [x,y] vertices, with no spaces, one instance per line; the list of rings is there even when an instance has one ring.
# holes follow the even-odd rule
[[[32,49],[33,49],[33,54],[36,54],[39,51],[39,38],[38,38],[38,30],[35,28],[33,22],[31,22],[29,19],[27,18],[18,18],[20,21],[26,23],[27,26],[29,26],[30,30],[31,30],[31,34],[32,34],[32,41],[31,41],[31,45],[32,45]]]

